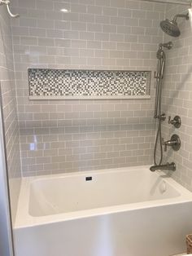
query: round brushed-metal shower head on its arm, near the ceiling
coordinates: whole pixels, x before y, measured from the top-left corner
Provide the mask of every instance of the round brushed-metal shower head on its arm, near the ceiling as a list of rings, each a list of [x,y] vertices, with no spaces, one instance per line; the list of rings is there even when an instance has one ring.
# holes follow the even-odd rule
[[[164,33],[167,33],[173,38],[177,38],[181,35],[180,29],[177,24],[177,18],[185,18],[185,20],[189,20],[190,16],[189,13],[177,14],[174,16],[173,20],[166,19],[160,22],[160,27],[164,31]]]

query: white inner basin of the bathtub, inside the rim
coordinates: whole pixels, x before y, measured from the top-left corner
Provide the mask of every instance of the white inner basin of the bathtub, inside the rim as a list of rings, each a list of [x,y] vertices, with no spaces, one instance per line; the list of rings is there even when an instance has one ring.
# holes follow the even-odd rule
[[[41,217],[181,196],[164,177],[148,168],[121,168],[34,179],[28,213]]]

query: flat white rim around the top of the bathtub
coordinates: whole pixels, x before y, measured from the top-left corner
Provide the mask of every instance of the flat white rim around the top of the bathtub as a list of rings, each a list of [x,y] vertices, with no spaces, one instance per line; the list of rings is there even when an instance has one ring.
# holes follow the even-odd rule
[[[192,201],[192,192],[182,187],[181,184],[177,183],[172,177],[165,174],[163,171],[156,171],[154,174],[162,177],[162,179],[166,180],[166,182],[172,186],[172,188],[176,189],[176,191],[180,194],[180,196],[168,198],[168,199],[160,199],[155,201],[144,201],[137,202],[131,204],[124,205],[112,205],[101,208],[94,208],[89,210],[78,210],[70,213],[61,213],[61,214],[52,214],[45,216],[34,217],[28,213],[28,204],[29,204],[29,194],[30,194],[30,184],[37,180],[45,180],[45,179],[58,179],[65,177],[75,177],[75,176],[89,176],[91,174],[110,174],[116,173],[120,171],[130,171],[130,170],[149,170],[150,166],[129,166],[129,167],[121,167],[121,168],[113,168],[107,170],[90,170],[90,171],[82,171],[82,172],[74,172],[74,173],[62,173],[62,174],[49,174],[49,175],[39,175],[39,176],[31,176],[24,177],[21,181],[20,188],[20,196],[18,202],[18,209],[16,213],[15,225],[16,228],[23,227],[33,227],[40,226],[48,223],[59,223],[63,221],[69,221],[77,218],[88,218],[94,217],[98,215],[106,215],[106,214],[115,214],[128,210],[140,210],[147,209],[152,207],[159,207],[163,205],[176,205],[181,203],[186,203]]]

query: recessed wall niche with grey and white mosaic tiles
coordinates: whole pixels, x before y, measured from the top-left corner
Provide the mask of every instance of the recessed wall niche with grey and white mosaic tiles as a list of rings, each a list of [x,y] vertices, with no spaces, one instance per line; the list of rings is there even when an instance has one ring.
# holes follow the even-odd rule
[[[28,69],[30,96],[126,98],[150,95],[150,71]]]

